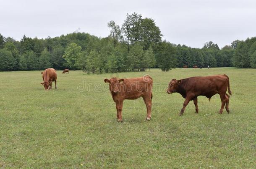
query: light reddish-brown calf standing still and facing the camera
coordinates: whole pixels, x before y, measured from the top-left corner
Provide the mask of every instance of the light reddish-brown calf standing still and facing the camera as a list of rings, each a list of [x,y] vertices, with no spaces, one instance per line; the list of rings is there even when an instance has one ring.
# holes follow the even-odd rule
[[[150,76],[146,75],[140,78],[111,78],[104,79],[105,83],[110,83],[110,93],[117,109],[118,122],[122,122],[122,108],[125,99],[134,100],[142,97],[147,109],[146,120],[151,119],[151,106],[152,106],[152,86],[153,80]],[[123,83],[120,83],[123,82]]]

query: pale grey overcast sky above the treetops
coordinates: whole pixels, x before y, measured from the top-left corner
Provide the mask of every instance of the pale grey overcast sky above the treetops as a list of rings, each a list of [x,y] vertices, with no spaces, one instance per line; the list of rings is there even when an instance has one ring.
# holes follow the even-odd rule
[[[110,20],[121,26],[133,12],[154,19],[163,39],[194,48],[256,36],[256,0],[0,0],[0,33],[20,40],[79,28],[106,37]]]

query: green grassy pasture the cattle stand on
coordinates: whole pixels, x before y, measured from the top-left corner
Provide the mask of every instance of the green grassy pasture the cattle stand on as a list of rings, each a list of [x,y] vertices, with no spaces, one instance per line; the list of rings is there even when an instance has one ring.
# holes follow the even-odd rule
[[[87,75],[57,71],[44,91],[41,71],[0,72],[0,168],[256,168],[256,69],[210,68]],[[227,74],[230,114],[219,95],[168,95],[172,78]],[[125,100],[123,123],[104,78],[154,80],[152,120],[142,98]],[[225,109],[224,109],[225,110]]]

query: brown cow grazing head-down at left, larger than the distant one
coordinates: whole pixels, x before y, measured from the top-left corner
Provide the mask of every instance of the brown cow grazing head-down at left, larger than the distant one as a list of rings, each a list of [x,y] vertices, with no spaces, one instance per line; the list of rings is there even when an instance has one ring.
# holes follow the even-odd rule
[[[44,83],[41,83],[41,84],[44,85],[45,90],[47,90],[48,88],[49,89],[52,88],[52,81],[54,81],[55,88],[57,88],[57,86],[56,86],[57,73],[54,68],[45,69],[42,77],[43,77]]]

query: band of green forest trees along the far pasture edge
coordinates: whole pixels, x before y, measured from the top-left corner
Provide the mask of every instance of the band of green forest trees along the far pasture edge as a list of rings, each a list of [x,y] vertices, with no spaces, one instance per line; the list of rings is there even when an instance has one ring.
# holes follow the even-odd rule
[[[163,40],[155,20],[138,13],[127,14],[121,26],[113,20],[107,26],[110,34],[104,38],[74,32],[42,39],[24,35],[18,41],[0,34],[0,71],[69,68],[114,73],[194,65],[256,68],[256,37],[235,40],[221,49],[212,41],[203,48],[191,48]]]

